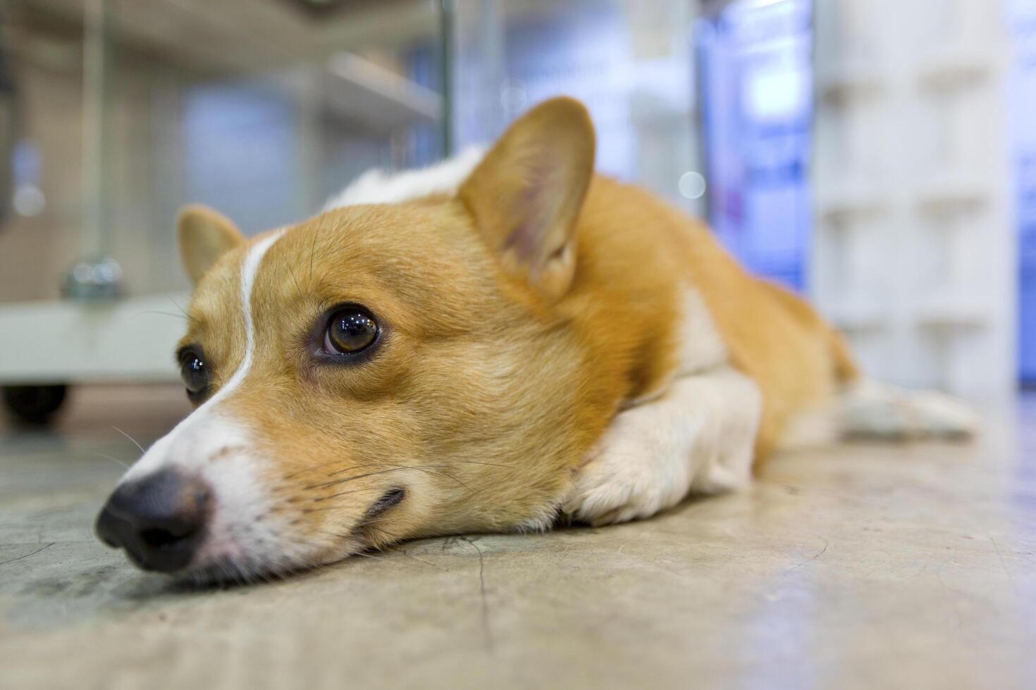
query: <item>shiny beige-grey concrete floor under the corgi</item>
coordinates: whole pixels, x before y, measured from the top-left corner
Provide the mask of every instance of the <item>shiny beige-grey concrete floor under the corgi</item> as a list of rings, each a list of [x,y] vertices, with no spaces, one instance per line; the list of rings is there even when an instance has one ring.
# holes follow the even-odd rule
[[[110,425],[184,410],[91,390],[0,430],[0,687],[1036,687],[1036,398],[972,446],[795,453],[645,522],[207,591],[90,533],[136,452]]]

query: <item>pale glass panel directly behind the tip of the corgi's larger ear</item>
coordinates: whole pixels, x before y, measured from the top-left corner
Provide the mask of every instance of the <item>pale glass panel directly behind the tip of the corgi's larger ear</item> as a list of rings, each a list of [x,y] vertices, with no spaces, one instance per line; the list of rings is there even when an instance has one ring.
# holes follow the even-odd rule
[[[460,3],[458,148],[491,141],[544,98],[572,95],[594,118],[600,171],[700,211],[693,20],[683,0]]]

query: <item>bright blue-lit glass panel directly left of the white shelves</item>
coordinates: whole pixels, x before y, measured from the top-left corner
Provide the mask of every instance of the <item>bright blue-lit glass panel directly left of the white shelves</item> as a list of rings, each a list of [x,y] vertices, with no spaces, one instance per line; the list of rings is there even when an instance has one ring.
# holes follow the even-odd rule
[[[709,219],[754,272],[803,288],[812,209],[808,0],[732,2],[699,24]]]

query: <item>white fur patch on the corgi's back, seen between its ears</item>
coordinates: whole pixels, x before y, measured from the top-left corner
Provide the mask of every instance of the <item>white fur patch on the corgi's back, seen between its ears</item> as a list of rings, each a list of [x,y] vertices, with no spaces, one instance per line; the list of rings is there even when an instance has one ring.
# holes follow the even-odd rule
[[[408,170],[392,175],[378,169],[369,170],[327,200],[324,210],[357,204],[398,204],[432,194],[456,193],[484,154],[484,149],[472,147],[422,170]]]

